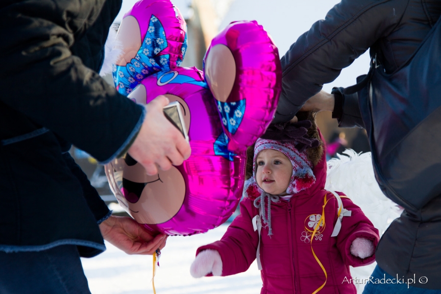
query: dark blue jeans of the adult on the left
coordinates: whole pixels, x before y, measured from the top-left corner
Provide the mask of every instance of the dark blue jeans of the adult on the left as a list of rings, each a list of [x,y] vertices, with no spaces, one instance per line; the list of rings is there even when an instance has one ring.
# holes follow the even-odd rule
[[[90,294],[75,245],[0,251],[1,294]]]

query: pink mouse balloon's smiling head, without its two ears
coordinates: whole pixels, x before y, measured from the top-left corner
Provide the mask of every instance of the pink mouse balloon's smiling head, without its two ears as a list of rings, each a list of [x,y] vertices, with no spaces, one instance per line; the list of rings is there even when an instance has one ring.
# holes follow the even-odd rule
[[[158,95],[178,101],[192,155],[182,165],[149,176],[126,155],[107,165],[120,204],[139,223],[169,235],[206,232],[236,209],[244,185],[245,153],[227,150],[214,98],[196,68],[175,68],[145,78],[128,96],[148,103]]]

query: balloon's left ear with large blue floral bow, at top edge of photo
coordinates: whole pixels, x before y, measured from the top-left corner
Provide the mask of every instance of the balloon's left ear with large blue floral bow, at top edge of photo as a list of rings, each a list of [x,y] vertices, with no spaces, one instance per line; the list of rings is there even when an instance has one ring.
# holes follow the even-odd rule
[[[123,55],[113,67],[117,90],[127,96],[145,77],[179,66],[187,25],[170,0],[141,0],[124,15],[117,38]]]

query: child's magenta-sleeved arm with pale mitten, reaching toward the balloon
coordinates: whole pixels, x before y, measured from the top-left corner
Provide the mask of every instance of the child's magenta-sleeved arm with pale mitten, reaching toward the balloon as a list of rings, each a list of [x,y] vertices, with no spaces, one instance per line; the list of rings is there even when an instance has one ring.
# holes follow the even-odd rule
[[[234,219],[220,241],[197,248],[190,272],[194,277],[227,276],[243,272],[256,258],[259,236],[252,218],[257,214],[251,200],[240,204],[241,214]]]

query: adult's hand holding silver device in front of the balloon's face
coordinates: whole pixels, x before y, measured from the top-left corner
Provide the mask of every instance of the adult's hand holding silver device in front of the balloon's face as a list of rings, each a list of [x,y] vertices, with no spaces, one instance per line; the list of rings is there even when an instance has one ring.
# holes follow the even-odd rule
[[[141,129],[128,149],[130,156],[139,162],[148,175],[167,171],[172,165],[181,165],[190,157],[191,148],[179,130],[170,123],[163,113],[169,99],[160,95],[147,103],[146,118]]]

